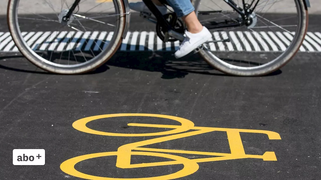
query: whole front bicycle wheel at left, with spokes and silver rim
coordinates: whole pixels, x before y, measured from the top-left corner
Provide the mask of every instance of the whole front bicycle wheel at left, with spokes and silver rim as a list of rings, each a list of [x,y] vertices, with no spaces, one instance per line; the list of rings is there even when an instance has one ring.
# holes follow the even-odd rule
[[[125,27],[121,0],[9,0],[8,26],[20,52],[39,68],[58,74],[96,69],[117,51]]]

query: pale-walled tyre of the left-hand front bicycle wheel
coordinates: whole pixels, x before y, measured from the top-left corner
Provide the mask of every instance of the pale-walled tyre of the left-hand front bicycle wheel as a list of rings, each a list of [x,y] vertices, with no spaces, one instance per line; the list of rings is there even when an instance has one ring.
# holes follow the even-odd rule
[[[62,67],[62,66],[56,66],[48,64],[48,62],[44,61],[43,59],[39,58],[39,55],[37,55],[34,51],[31,50],[29,46],[26,45],[25,40],[22,37],[19,24],[17,21],[17,5],[20,0],[9,0],[8,6],[7,6],[7,24],[9,31],[11,33],[11,36],[13,38],[13,41],[19,51],[25,56],[25,58],[30,61],[35,66],[39,67],[42,70],[55,73],[55,74],[82,74],[89,71],[92,71],[94,69],[97,69],[102,64],[104,64],[106,61],[108,61],[117,51],[119,46],[122,43],[122,34],[125,29],[125,23],[126,23],[126,16],[120,15],[119,16],[119,26],[117,28],[117,35],[115,37],[112,37],[112,40],[110,41],[112,45],[108,45],[109,48],[106,48],[105,50],[101,51],[101,53],[96,56],[97,58],[95,61],[87,61],[85,64],[70,68],[70,67]],[[114,0],[115,9],[118,10],[119,14],[124,14],[125,7],[124,2],[122,0]]]

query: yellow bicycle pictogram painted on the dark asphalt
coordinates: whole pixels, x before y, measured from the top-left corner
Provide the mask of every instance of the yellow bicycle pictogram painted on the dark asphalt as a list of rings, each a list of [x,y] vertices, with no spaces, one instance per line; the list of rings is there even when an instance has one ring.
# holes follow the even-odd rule
[[[160,129],[165,129],[165,128],[172,129],[168,131],[162,131],[162,132],[156,132],[156,133],[142,133],[142,134],[109,133],[109,132],[97,131],[97,130],[88,128],[86,126],[88,122],[97,120],[97,119],[113,118],[113,117],[128,117],[128,116],[145,116],[145,117],[172,119],[174,121],[179,122],[181,125],[128,123],[128,126],[133,126],[133,127],[157,127]],[[261,134],[266,134],[270,140],[281,139],[280,135],[273,131],[218,128],[218,127],[197,127],[197,126],[194,126],[194,123],[188,119],[184,119],[176,116],[161,115],[161,114],[120,113],[120,114],[105,114],[105,115],[91,116],[91,117],[87,117],[87,118],[83,118],[75,121],[73,123],[73,127],[79,131],[95,134],[95,135],[128,136],[128,137],[129,136],[138,137],[138,136],[164,135],[158,138],[124,144],[120,146],[117,151],[99,152],[99,153],[92,153],[92,154],[86,154],[86,155],[74,157],[64,161],[60,165],[61,170],[69,175],[84,178],[84,179],[91,179],[91,180],[119,180],[119,179],[169,180],[169,179],[188,176],[195,173],[199,168],[198,163],[201,163],[201,162],[235,160],[235,159],[244,159],[244,158],[256,158],[256,159],[262,159],[264,161],[276,161],[277,159],[273,151],[267,151],[263,155],[246,154],[243,148],[243,143],[241,140],[240,133],[261,133]],[[189,131],[189,130],[194,130],[194,131]],[[185,150],[171,150],[171,149],[157,149],[157,148],[142,147],[150,144],[166,142],[166,141],[180,139],[188,136],[200,135],[200,134],[209,133],[213,131],[224,131],[227,133],[231,153],[185,151]],[[167,153],[209,155],[209,156],[215,156],[215,157],[188,159],[185,157],[167,154]],[[157,156],[157,157],[171,159],[171,161],[131,164],[131,157],[133,155]],[[184,167],[178,172],[175,172],[169,175],[143,177],[143,178],[112,178],[112,177],[92,176],[89,174],[79,172],[74,168],[74,166],[81,161],[88,160],[91,158],[104,157],[104,156],[117,156],[117,161],[116,161],[117,168],[142,168],[142,167],[166,166],[166,165],[175,165],[175,164],[182,164]]]

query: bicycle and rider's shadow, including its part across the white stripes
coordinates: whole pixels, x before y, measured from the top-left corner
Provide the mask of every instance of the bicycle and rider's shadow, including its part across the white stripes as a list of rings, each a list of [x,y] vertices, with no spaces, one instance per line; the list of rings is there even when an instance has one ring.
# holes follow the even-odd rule
[[[86,36],[90,37],[90,33],[87,33]],[[76,38],[75,36],[65,38],[55,37],[51,38],[52,41],[45,40],[40,44],[31,44],[30,47],[34,51],[42,50],[39,55],[51,62],[60,63],[60,61],[68,61],[68,64],[77,64],[86,62],[88,59],[98,56],[100,50],[108,48],[109,41],[100,40],[97,38],[88,39],[86,38],[86,36],[84,37],[82,35],[79,38]],[[107,36],[108,33],[106,33],[105,38],[103,39],[106,39]],[[131,49],[133,51],[119,51],[119,49]],[[127,69],[161,72],[161,78],[164,79],[184,78],[189,73],[215,76],[231,76],[213,69],[213,67],[209,66],[198,54],[190,53],[183,58],[175,59],[173,55],[174,51],[148,51],[147,47],[143,45],[121,44],[119,49],[113,55],[113,57],[111,57],[107,61],[107,63],[103,64],[96,70],[84,74],[102,73],[109,69],[108,66],[115,66]],[[144,51],[138,51],[139,49],[144,49]],[[63,52],[56,52],[60,50],[63,50]],[[163,50],[165,50],[165,48]],[[224,56],[226,57],[226,53],[224,54]],[[2,59],[12,58],[23,58],[23,56],[3,56],[0,57],[0,61]],[[238,60],[235,57],[233,59],[225,59],[225,61],[259,65],[254,61]],[[35,67],[35,70],[24,70],[0,65],[0,68],[27,73],[52,74],[40,70],[37,67]],[[281,73],[281,70],[277,70],[265,76],[274,76]]]

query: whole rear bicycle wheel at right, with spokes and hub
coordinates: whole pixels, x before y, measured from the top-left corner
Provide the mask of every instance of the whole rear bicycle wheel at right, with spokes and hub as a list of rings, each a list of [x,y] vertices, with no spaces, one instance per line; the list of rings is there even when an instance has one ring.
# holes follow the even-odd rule
[[[252,7],[257,0],[245,0]],[[202,2],[202,3],[201,3]],[[244,9],[241,0],[234,3]],[[225,1],[193,0],[195,12],[206,27],[241,21],[239,13]],[[251,23],[233,29],[211,29],[213,40],[231,42],[204,44],[199,54],[226,74],[261,76],[280,69],[298,52],[308,27],[304,0],[260,0],[251,14]]]

